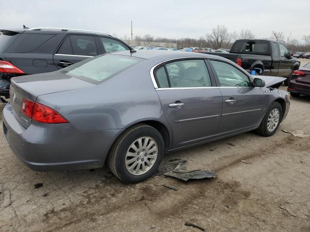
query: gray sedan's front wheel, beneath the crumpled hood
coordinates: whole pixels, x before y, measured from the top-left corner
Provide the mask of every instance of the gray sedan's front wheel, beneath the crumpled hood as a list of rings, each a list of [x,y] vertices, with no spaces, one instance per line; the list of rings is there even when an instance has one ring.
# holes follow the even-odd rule
[[[268,108],[257,132],[265,137],[273,135],[279,128],[282,118],[282,107],[279,102],[273,102]]]

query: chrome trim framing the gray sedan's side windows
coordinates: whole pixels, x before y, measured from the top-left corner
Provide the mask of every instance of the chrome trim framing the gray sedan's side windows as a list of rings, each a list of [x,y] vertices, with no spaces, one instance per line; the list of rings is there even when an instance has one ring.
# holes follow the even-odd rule
[[[56,54],[55,54],[56,55]],[[221,59],[221,58],[213,58],[213,57],[178,57],[178,58],[172,58],[172,59],[167,59],[165,61],[162,61],[156,65],[154,65],[151,70],[150,70],[150,75],[151,75],[151,79],[152,79],[152,82],[153,82],[153,85],[155,87],[156,90],[167,90],[167,89],[195,89],[195,88],[252,88],[252,87],[171,87],[171,88],[159,88],[157,86],[157,83],[156,83],[156,80],[155,80],[155,75],[154,75],[154,70],[155,68],[157,68],[158,66],[162,65],[163,63],[166,63],[166,62],[169,62],[169,61],[172,61],[172,60],[178,60],[178,59],[190,59],[190,58],[193,58],[193,59],[197,59],[197,58],[200,58],[200,59],[213,59],[213,60],[219,60],[219,61],[223,61],[223,62],[228,62],[230,64],[232,64],[236,69],[238,69],[240,72],[244,73],[245,75],[248,76],[248,78],[253,81],[253,77],[246,71],[244,72],[243,69],[240,69],[240,66],[238,66],[236,63],[234,63],[233,61],[231,60],[224,60],[224,59]],[[254,87],[256,88],[256,87]]]

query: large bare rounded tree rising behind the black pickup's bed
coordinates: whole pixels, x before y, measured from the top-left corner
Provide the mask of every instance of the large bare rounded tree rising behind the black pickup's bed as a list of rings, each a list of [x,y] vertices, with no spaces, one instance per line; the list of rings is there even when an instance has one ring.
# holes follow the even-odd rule
[[[235,38],[236,33],[229,33],[224,25],[217,25],[217,28],[212,29],[211,34],[206,35],[207,41],[215,49],[228,47]]]

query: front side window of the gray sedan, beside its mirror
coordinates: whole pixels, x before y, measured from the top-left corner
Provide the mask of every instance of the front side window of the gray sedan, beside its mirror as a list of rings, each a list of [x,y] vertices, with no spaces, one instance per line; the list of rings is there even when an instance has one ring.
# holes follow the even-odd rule
[[[235,68],[233,65],[217,61],[210,60],[212,66],[217,73],[221,87],[251,87],[251,82],[248,76]]]

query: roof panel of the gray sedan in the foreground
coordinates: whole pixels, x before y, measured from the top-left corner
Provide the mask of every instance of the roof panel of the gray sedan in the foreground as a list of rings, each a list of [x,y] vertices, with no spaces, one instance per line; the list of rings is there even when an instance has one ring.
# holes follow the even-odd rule
[[[121,51],[112,53],[115,55],[122,56],[131,56],[143,59],[152,59],[156,57],[165,57],[165,59],[169,58],[182,58],[182,57],[205,57],[205,58],[214,58],[218,56],[204,54],[204,53],[196,53],[196,52],[182,52],[182,51],[171,51],[171,50],[138,50],[134,53],[130,53],[129,51]],[[222,58],[226,60],[226,58]]]

